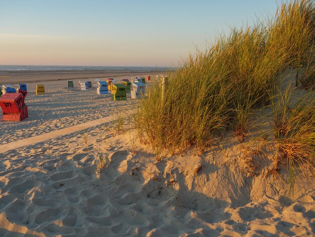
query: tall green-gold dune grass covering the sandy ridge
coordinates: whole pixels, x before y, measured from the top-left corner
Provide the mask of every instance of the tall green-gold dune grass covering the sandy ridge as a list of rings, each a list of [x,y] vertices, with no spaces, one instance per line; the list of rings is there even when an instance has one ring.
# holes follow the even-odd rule
[[[285,3],[276,16],[231,29],[207,50],[189,56],[180,69],[168,75],[164,99],[159,82],[141,99],[135,115],[140,140],[152,147],[158,160],[192,146],[201,154],[224,130],[232,130],[244,142],[255,110],[274,105],[276,138],[290,167],[306,160],[313,165],[314,147],[309,143],[308,150],[299,147],[313,142],[315,117],[306,112],[313,112],[309,105],[313,101],[303,103],[303,98],[288,115],[285,100],[275,107],[273,99],[281,91],[283,73],[288,69],[298,78],[306,68],[301,84],[313,83],[314,67],[309,62],[313,58],[314,10],[312,1]],[[309,122],[302,123],[305,116]]]

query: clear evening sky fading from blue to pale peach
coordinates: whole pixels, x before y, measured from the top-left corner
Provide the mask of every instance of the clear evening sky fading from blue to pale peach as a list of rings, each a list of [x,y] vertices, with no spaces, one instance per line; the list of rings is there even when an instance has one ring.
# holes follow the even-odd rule
[[[176,67],[276,0],[0,0],[0,65]]]

